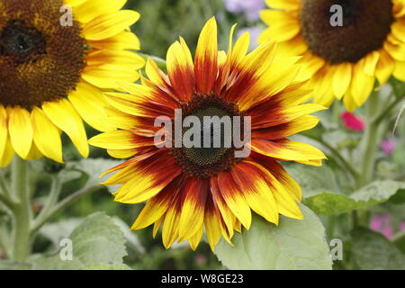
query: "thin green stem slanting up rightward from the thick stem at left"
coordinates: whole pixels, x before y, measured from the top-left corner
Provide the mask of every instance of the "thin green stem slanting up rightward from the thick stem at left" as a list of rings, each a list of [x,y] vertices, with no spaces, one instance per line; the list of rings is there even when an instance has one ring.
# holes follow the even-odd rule
[[[86,193],[91,193],[94,191],[99,190],[102,188],[102,185],[97,185],[97,186],[92,186],[92,187],[85,187],[76,193],[72,193],[69,196],[67,196],[65,199],[63,199],[61,202],[58,202],[58,204],[54,205],[47,211],[46,214],[43,214],[42,217],[38,217],[36,220],[33,221],[31,225],[31,233],[35,233],[38,231],[50,218],[58,214],[59,211],[62,211],[65,209],[68,205],[70,205],[72,202],[76,201],[77,198],[83,196]]]

